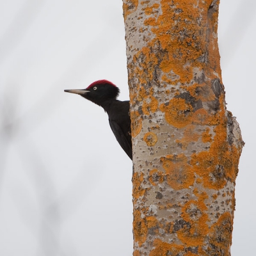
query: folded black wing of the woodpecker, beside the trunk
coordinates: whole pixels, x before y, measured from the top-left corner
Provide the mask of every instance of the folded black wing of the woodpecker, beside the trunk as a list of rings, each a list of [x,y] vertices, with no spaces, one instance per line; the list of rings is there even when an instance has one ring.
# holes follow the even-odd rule
[[[116,140],[120,146],[124,149],[125,153],[132,159],[132,141],[128,141],[120,125],[114,120],[109,120],[109,125],[115,134]]]

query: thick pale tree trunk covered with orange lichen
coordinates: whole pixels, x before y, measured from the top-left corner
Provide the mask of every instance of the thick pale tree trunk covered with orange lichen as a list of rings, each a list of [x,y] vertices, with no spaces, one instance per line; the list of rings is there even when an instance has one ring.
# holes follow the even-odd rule
[[[243,147],[221,81],[218,0],[123,0],[134,256],[230,255]]]

